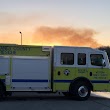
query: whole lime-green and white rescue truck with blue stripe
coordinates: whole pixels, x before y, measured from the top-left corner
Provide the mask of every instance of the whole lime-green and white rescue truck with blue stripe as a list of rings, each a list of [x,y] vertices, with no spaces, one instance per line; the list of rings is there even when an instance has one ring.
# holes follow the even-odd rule
[[[87,100],[110,92],[105,51],[89,47],[0,44],[0,98],[18,91],[62,92]]]

